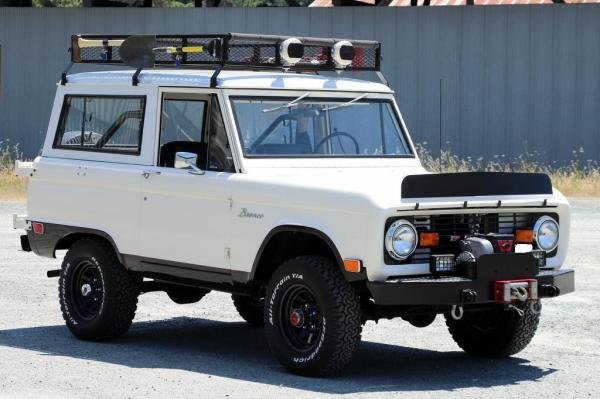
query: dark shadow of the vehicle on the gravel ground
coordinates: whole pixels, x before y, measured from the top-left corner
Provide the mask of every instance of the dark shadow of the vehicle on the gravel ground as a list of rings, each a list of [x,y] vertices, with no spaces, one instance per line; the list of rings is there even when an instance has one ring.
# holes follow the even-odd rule
[[[62,325],[0,330],[0,345],[133,368],[181,369],[307,391],[347,394],[452,391],[535,381],[554,373],[517,357],[475,359],[362,342],[341,376],[309,379],[287,373],[271,355],[264,333],[242,322],[186,317],[134,323],[114,343],[79,341]]]

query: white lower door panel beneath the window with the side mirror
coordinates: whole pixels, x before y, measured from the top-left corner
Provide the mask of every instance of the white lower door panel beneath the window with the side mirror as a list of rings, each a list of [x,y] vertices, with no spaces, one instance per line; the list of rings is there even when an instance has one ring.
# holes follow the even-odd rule
[[[131,254],[229,269],[230,174],[159,169],[142,182],[140,240]]]

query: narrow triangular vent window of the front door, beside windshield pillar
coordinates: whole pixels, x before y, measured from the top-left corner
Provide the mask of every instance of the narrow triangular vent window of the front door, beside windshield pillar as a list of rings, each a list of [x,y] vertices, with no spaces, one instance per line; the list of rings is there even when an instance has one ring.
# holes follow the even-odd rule
[[[211,98],[210,139],[208,169],[220,172],[235,172],[231,147],[217,96]]]

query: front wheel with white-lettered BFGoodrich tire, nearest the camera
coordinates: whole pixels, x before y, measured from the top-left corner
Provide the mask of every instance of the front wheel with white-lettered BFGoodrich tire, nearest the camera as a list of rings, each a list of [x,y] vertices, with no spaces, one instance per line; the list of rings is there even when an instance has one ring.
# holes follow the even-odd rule
[[[303,256],[281,265],[268,284],[265,306],[269,346],[295,374],[335,374],[358,348],[359,296],[328,258]]]

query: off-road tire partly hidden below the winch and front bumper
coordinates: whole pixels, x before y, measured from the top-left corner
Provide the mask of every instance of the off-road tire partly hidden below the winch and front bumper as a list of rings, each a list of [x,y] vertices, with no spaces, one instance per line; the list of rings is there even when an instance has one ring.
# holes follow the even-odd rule
[[[541,302],[532,310],[530,302],[516,304],[524,314],[503,305],[493,310],[465,312],[460,320],[446,314],[446,325],[454,341],[466,353],[480,357],[509,357],[522,351],[530,342],[540,321]]]

